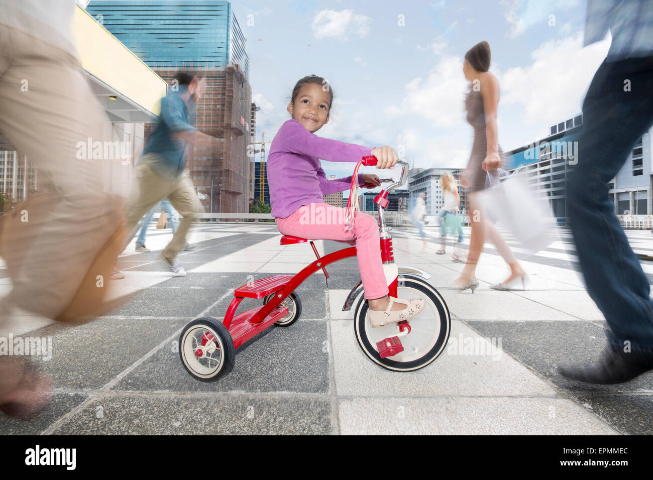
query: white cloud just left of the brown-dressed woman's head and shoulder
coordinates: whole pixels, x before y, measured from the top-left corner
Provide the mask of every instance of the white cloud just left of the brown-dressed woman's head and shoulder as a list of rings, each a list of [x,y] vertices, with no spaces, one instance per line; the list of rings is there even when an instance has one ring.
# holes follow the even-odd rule
[[[409,115],[417,121],[429,121],[434,127],[462,125],[467,82],[458,57],[441,57],[425,81],[415,78],[406,84],[402,106],[389,106],[390,116]]]

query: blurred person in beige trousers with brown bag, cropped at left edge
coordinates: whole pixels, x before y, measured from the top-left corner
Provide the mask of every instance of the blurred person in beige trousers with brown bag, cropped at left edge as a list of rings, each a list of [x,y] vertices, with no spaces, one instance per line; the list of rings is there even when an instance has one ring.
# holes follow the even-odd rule
[[[110,282],[95,288],[96,274],[108,276],[118,255],[116,245],[106,273],[90,268],[119,232],[121,206],[103,192],[101,160],[78,158],[78,142],[111,140],[112,128],[76,57],[75,8],[74,0],[0,0],[0,131],[54,185],[1,219],[13,288],[0,298],[0,336],[29,328],[11,323],[18,309],[66,319],[89,274],[104,295]],[[8,415],[29,417],[50,398],[52,380],[30,363],[0,355],[0,410]]]

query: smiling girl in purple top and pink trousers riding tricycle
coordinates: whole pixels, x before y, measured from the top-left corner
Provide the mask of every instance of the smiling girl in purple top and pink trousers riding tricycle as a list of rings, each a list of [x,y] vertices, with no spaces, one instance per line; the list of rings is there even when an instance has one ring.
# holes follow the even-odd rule
[[[418,298],[402,298],[399,302],[388,296],[379,226],[374,217],[356,212],[353,225],[334,225],[330,221],[325,225],[321,220],[345,217],[345,209],[326,204],[323,195],[349,189],[352,178],[327,180],[319,159],[356,163],[365,155],[374,155],[377,168],[392,168],[398,156],[389,146],[370,148],[315,135],[328,122],[332,103],[333,90],[324,78],[311,75],[296,83],[287,107],[292,119],[281,125],[268,157],[272,216],[276,217],[279,232],[285,235],[355,243],[368,318],[373,327],[383,327],[417,315],[425,302]],[[379,178],[359,174],[358,185],[363,184],[378,186]]]

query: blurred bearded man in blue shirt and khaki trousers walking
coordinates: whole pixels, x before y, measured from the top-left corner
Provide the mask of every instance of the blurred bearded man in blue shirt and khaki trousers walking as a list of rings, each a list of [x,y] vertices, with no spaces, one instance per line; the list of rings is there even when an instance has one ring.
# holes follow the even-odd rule
[[[183,219],[161,256],[170,265],[174,276],[181,277],[185,276],[186,272],[178,264],[176,257],[185,246],[188,229],[197,217],[198,204],[193,181],[185,168],[186,142],[215,139],[201,133],[189,123],[189,111],[202,96],[203,79],[200,76],[180,73],[175,80],[178,83],[174,85],[179,91],[172,91],[161,99],[159,123],[146,141],[143,153],[136,163],[138,185],[127,206],[125,231],[130,234],[123,247],[127,247],[131,242],[141,217],[167,197]]]

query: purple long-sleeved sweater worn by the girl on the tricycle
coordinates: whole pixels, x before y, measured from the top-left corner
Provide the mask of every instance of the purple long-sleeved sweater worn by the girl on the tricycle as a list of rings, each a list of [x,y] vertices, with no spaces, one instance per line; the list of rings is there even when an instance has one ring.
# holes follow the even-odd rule
[[[321,138],[296,120],[286,121],[274,136],[268,157],[272,216],[288,217],[302,205],[324,202],[322,195],[351,187],[351,176],[327,180],[319,159],[356,163],[371,152],[372,147]],[[358,174],[358,185],[362,183]]]

